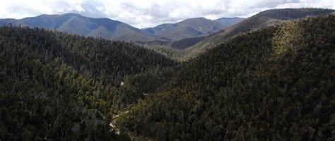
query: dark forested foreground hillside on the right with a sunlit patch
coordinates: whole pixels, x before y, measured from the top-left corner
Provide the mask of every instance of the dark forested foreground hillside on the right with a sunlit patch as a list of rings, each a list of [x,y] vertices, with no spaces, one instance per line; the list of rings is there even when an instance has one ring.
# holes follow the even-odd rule
[[[335,16],[228,39],[117,118],[153,140],[334,140]]]

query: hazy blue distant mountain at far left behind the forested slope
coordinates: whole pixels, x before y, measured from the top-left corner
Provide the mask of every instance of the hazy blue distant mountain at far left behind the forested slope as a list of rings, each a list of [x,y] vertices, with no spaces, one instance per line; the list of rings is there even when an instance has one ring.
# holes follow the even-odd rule
[[[0,25],[10,23],[29,27],[52,28],[61,32],[91,37],[102,37],[105,39],[127,41],[150,41],[158,39],[151,34],[117,20],[110,20],[108,18],[88,18],[75,13],[67,13],[64,15],[41,15],[20,20],[0,20]]]

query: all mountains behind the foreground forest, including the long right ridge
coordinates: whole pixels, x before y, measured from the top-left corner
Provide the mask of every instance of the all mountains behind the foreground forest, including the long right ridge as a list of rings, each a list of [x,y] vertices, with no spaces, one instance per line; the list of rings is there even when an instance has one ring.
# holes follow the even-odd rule
[[[322,8],[284,8],[263,11],[249,18],[189,18],[177,23],[165,23],[156,27],[138,29],[127,23],[109,18],[88,18],[76,13],[63,15],[41,15],[23,19],[0,19],[0,25],[21,25],[50,28],[88,37],[124,40],[183,49],[181,60],[188,60],[216,47],[226,39],[243,32],[251,32],[274,26],[285,20],[326,15],[334,10]]]

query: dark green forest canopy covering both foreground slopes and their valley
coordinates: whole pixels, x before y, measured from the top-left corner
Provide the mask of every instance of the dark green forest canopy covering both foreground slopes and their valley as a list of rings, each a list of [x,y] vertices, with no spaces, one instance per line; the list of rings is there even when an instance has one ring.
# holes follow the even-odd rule
[[[166,56],[197,39],[143,47],[5,25],[0,140],[334,140],[334,29],[334,15],[281,21],[178,63]]]

